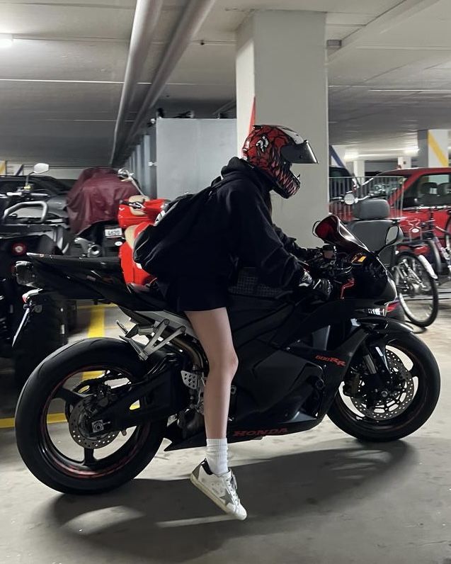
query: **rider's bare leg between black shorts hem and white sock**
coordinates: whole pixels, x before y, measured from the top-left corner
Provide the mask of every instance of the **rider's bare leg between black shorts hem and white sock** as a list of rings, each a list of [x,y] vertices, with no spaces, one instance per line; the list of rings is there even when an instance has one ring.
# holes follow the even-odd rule
[[[225,439],[230,385],[238,368],[227,309],[185,313],[202,344],[210,366],[204,393],[207,439]]]

